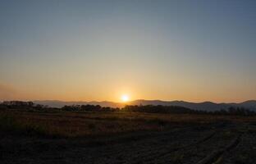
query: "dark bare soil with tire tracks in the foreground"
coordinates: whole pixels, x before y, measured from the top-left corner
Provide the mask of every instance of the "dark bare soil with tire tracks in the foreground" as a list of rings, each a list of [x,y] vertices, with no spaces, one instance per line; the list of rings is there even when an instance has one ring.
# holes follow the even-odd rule
[[[172,123],[94,137],[51,138],[0,132],[0,161],[10,163],[182,163],[253,164],[254,121]]]

